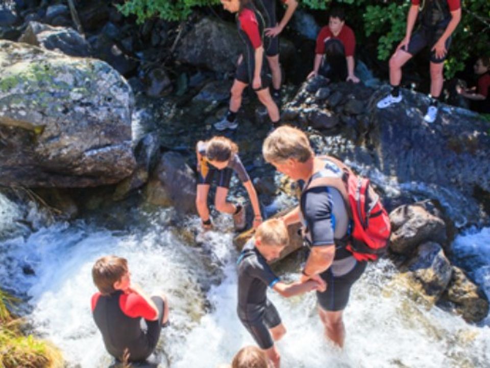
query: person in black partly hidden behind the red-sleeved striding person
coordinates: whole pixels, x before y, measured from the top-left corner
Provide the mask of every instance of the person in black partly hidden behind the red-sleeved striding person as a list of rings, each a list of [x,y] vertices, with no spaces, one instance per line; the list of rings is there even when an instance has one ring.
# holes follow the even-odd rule
[[[276,0],[254,0],[256,8],[265,20],[265,36],[269,38],[268,47],[265,50],[269,67],[272,72],[272,97],[276,102],[281,98],[281,65],[279,64],[279,34],[284,30],[296,8],[297,0],[281,0],[287,6],[281,21],[276,20]]]

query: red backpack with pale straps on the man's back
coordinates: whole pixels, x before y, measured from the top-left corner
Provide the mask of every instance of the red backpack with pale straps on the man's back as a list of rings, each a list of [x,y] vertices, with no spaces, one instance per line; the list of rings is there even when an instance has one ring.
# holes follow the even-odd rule
[[[347,250],[351,251],[358,261],[376,261],[388,246],[391,225],[388,214],[370,185],[369,179],[357,177],[354,172],[340,160],[325,158],[344,172],[342,177],[318,177],[310,181],[303,193],[315,187],[337,189],[352,221]]]

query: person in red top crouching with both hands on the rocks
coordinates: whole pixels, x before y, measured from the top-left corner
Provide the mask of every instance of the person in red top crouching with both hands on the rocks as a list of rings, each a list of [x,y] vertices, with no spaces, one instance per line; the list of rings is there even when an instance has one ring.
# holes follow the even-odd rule
[[[356,36],[345,25],[345,19],[343,9],[330,11],[328,26],[323,27],[316,38],[315,61],[308,78],[320,74],[332,81],[359,82],[354,74]]]

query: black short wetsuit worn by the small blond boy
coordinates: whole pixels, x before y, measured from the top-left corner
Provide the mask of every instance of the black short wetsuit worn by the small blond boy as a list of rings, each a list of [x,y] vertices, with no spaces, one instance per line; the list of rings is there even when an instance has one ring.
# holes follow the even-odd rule
[[[237,261],[237,313],[258,346],[269,349],[274,345],[269,329],[279,326],[281,318],[267,298],[267,286],[273,287],[279,278],[254,246],[254,241],[252,238],[247,242]]]

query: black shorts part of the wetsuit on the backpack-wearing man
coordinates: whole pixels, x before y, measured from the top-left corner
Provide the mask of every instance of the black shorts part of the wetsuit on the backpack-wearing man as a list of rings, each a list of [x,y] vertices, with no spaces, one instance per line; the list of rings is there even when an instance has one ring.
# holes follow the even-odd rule
[[[367,262],[357,262],[354,268],[342,276],[334,276],[330,269],[320,276],[327,283],[327,290],[316,292],[316,299],[323,310],[336,312],[344,310],[349,302],[352,285],[361,277]]]

